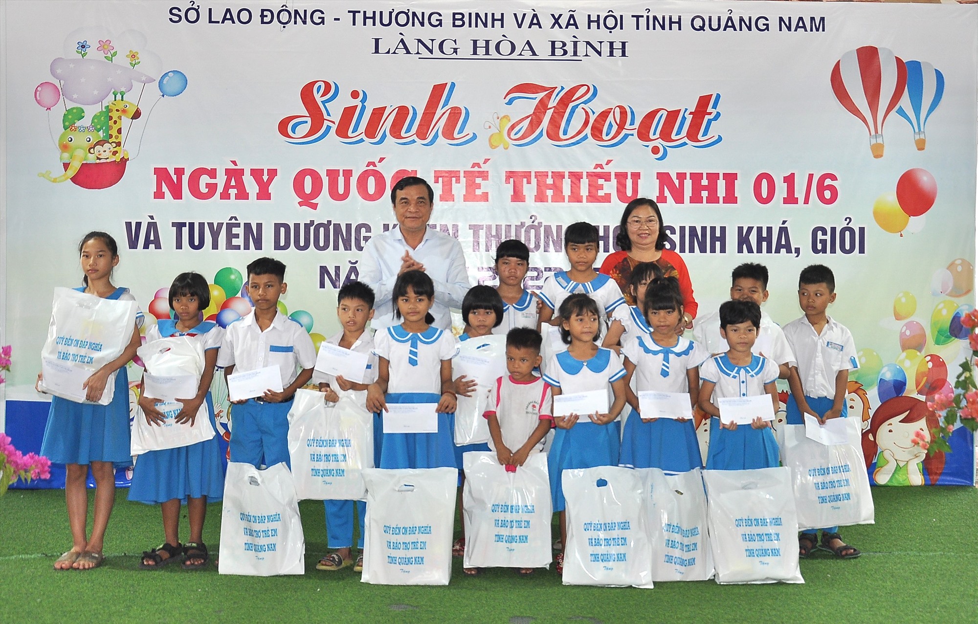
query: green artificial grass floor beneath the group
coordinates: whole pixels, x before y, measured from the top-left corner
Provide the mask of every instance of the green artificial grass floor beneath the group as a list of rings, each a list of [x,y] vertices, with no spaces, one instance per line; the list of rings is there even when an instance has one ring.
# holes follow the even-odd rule
[[[137,569],[162,539],[156,508],[119,490],[107,559],[91,571],[56,572],[70,547],[64,492],[12,490],[0,497],[0,622],[974,622],[978,541],[971,530],[978,490],[873,488],[876,524],[844,528],[863,557],[821,552],[802,560],[804,585],[656,583],[653,590],[563,587],[556,573],[529,578],[490,569],[477,578],[454,562],[448,587],[360,582],[346,568],[315,569],[327,552],[323,506],[300,504],[303,576],[221,576],[214,566]],[[209,506],[204,540],[219,542],[220,504]],[[186,520],[181,530],[186,539]]]

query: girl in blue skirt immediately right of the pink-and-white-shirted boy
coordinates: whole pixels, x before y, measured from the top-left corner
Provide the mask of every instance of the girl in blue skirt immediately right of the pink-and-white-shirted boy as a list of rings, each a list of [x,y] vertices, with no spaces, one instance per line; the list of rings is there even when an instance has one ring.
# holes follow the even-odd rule
[[[553,396],[601,390],[610,391],[613,401],[606,414],[557,414],[556,434],[547,458],[554,511],[560,513],[560,543],[567,544],[567,518],[564,513],[561,473],[566,468],[594,468],[618,464],[619,439],[611,426],[625,407],[625,369],[610,349],[598,346],[600,316],[598,303],[587,294],[571,294],[560,303],[560,337],[567,350],[557,353],[547,366],[544,380],[551,384]],[[563,552],[556,556],[557,574],[563,573]]]

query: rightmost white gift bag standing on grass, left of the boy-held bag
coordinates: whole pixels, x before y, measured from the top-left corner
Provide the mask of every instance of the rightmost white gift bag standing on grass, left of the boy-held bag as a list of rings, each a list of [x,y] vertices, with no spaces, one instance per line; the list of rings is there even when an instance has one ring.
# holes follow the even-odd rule
[[[804,583],[791,469],[703,470],[717,583]]]

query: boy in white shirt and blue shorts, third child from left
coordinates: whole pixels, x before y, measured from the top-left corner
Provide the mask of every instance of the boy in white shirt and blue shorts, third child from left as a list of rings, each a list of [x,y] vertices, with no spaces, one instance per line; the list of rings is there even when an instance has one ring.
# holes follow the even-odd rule
[[[258,258],[247,265],[247,292],[254,304],[251,314],[227,327],[217,357],[225,378],[236,370],[279,367],[282,392],[266,390],[262,396],[232,401],[231,461],[274,466],[289,462],[289,408],[295,390],[312,377],[316,349],[305,329],[279,311],[279,297],[288,286],[286,265],[274,258]]]

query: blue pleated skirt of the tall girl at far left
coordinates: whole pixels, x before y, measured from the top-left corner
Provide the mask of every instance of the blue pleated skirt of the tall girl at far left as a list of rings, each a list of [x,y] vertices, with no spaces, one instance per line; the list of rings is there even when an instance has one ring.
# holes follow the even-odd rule
[[[75,403],[51,397],[41,455],[53,464],[111,462],[115,468],[132,466],[129,454],[129,377],[125,367],[115,374],[109,405]]]

